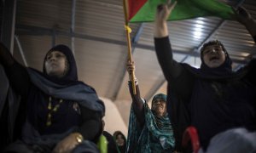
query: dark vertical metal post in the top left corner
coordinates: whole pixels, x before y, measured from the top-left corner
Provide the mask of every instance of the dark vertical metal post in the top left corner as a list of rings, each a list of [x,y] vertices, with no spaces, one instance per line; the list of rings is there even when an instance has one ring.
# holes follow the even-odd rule
[[[3,20],[1,29],[1,42],[14,52],[15,40],[16,0],[3,1]]]

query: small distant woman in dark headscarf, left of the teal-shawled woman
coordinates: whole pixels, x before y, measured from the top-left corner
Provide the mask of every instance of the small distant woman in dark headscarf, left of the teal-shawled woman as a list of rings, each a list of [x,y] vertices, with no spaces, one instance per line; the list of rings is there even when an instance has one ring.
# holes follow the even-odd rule
[[[125,135],[120,131],[116,131],[113,133],[113,139],[117,145],[117,150],[119,153],[125,153],[126,150],[126,139]]]

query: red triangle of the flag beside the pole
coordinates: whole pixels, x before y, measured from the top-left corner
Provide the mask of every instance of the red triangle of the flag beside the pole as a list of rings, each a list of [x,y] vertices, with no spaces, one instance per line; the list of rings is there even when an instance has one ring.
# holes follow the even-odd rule
[[[129,7],[129,17],[128,20],[137,14],[137,11],[143,7],[148,0],[128,0],[128,7]]]

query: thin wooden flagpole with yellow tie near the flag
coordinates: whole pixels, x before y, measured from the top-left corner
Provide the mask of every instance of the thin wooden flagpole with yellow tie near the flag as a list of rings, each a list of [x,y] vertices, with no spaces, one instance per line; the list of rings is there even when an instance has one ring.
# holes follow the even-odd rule
[[[133,62],[132,60],[132,54],[131,54],[131,28],[129,27],[129,21],[128,21],[128,12],[127,12],[127,0],[123,0],[123,8],[124,8],[124,13],[125,13],[125,32],[126,32],[126,38],[127,38],[127,46],[128,46],[128,61]],[[132,91],[133,94],[136,93],[136,87],[135,87],[135,72],[134,70],[131,71],[131,84],[132,84]]]

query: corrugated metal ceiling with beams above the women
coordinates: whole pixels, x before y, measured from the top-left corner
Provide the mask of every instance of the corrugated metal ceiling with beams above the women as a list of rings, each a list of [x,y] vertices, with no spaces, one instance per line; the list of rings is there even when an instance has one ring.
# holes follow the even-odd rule
[[[241,4],[256,19],[255,0],[225,3]],[[20,63],[42,70],[49,48],[66,44],[73,49],[79,80],[113,102],[130,100],[122,4],[121,0],[17,0],[14,56]],[[130,26],[136,77],[142,97],[149,100],[157,92],[166,92],[166,80],[154,53],[154,23]],[[195,67],[201,65],[198,49],[212,39],[224,43],[234,70],[256,54],[252,37],[236,21],[207,17],[171,21],[168,26],[174,59]]]

